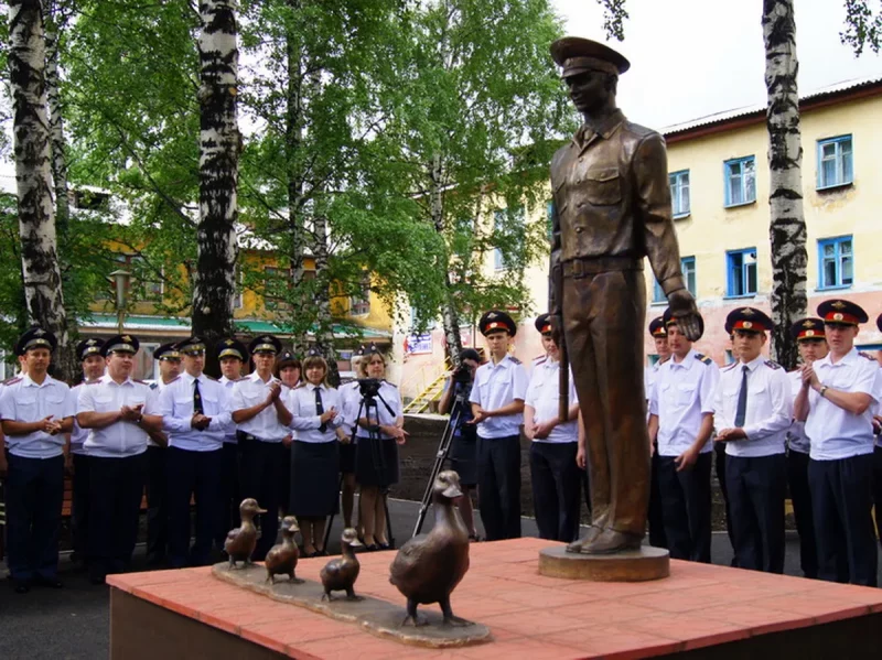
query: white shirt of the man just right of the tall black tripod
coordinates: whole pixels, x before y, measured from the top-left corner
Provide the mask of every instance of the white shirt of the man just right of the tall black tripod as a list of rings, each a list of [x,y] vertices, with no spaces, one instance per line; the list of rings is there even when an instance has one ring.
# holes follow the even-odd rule
[[[469,402],[484,410],[498,410],[515,400],[525,401],[528,383],[527,370],[520,360],[506,355],[496,365],[490,361],[477,368]],[[477,434],[486,439],[518,435],[523,423],[523,412],[487,418],[477,424]]]

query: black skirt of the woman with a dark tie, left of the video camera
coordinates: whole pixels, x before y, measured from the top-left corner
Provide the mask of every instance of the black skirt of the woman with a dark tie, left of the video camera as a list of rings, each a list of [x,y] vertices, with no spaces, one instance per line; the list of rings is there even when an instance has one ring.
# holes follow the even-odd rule
[[[291,506],[289,513],[304,518],[324,518],[337,512],[337,443],[291,443]]]

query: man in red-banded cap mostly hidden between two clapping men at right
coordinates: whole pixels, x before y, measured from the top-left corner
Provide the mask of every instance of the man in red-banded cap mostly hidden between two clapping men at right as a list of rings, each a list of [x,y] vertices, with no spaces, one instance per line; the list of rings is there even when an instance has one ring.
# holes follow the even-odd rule
[[[790,336],[799,347],[799,359],[804,365],[826,357],[827,339],[824,337],[824,320],[800,318],[790,326]],[[798,367],[790,371],[790,394],[796,400],[803,388],[803,371]],[[806,435],[805,422],[797,420],[787,432],[787,486],[793,502],[796,533],[799,534],[799,567],[805,577],[818,576],[818,548],[815,541],[815,520],[811,515],[811,493],[808,488],[808,455],[811,441]]]

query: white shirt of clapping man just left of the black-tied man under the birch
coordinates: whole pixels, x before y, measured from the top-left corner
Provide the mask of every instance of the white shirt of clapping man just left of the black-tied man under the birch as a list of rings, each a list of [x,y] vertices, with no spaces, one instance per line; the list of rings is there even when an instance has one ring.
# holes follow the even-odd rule
[[[105,374],[93,383],[79,388],[77,413],[119,412],[123,407],[143,405],[142,414],[160,414],[157,390],[140,380],[127,378],[118,383]],[[89,429],[84,447],[89,456],[125,458],[147,451],[147,431],[133,422],[119,420],[104,429]]]

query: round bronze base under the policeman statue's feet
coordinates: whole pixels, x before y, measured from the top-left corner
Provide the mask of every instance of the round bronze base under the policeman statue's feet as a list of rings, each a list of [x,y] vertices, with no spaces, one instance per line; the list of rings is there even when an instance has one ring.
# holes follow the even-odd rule
[[[647,582],[670,575],[670,554],[642,545],[616,554],[567,552],[563,545],[539,551],[539,574],[592,582]]]

